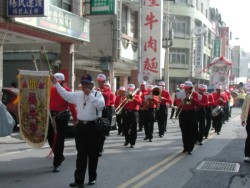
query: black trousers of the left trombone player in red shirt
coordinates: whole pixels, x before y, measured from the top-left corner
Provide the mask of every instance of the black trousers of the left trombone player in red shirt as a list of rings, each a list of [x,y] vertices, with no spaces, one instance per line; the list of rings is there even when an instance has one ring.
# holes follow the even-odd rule
[[[137,139],[137,119],[138,111],[125,110],[124,115],[124,136],[125,141],[135,145]]]

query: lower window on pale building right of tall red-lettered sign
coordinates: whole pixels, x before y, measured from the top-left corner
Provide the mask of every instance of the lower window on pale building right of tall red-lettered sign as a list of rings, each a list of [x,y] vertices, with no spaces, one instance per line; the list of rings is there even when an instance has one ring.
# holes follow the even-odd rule
[[[172,68],[188,68],[188,49],[171,48],[169,63],[172,64]],[[178,66],[179,65],[179,66]]]

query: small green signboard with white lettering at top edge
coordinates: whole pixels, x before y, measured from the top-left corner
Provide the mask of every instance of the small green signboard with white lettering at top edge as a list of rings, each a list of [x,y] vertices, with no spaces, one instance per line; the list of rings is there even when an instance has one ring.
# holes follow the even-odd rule
[[[114,0],[91,0],[91,14],[114,14]]]

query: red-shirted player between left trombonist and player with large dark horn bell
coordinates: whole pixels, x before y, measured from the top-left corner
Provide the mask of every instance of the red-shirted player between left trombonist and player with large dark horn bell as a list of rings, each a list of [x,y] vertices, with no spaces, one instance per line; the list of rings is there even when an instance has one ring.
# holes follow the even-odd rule
[[[145,116],[143,116],[146,135],[144,140],[149,140],[149,142],[152,142],[153,140],[156,106],[159,103],[159,97],[155,96],[152,92],[153,88],[152,85],[149,85],[147,87],[148,94],[144,95],[144,103],[146,103],[144,104],[146,105]]]

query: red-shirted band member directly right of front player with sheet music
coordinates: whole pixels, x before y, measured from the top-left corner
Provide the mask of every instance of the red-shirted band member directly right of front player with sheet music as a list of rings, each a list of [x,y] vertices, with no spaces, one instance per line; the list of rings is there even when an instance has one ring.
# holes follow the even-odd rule
[[[197,135],[197,144],[202,145],[203,141],[203,134],[205,129],[205,118],[206,118],[206,111],[205,108],[208,106],[208,96],[204,94],[206,91],[207,86],[204,84],[199,84],[198,86],[198,98],[199,98],[199,105],[196,108],[197,112],[197,120],[198,120],[198,135]]]

